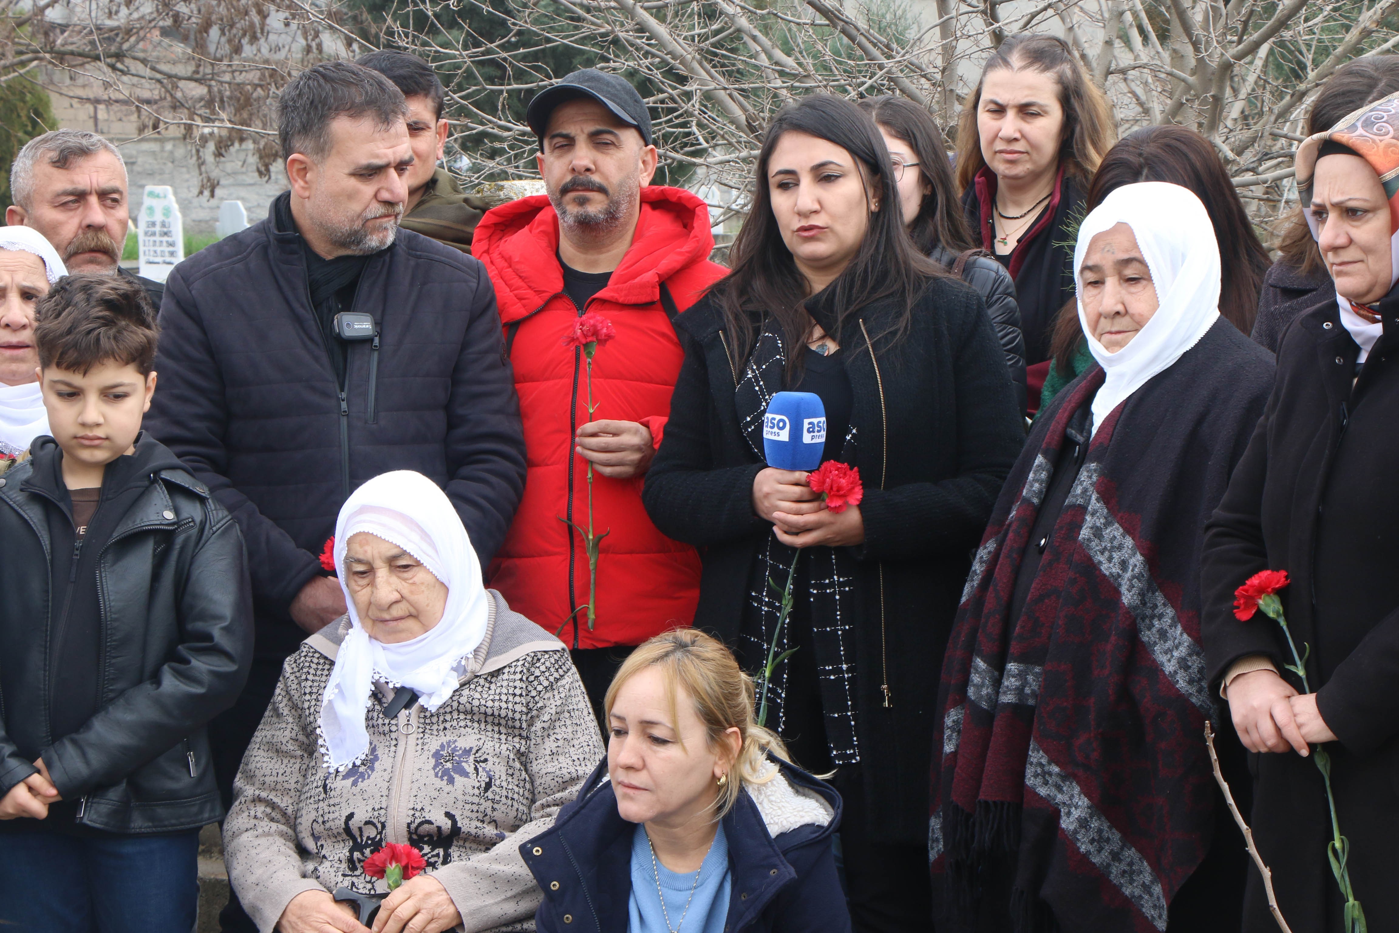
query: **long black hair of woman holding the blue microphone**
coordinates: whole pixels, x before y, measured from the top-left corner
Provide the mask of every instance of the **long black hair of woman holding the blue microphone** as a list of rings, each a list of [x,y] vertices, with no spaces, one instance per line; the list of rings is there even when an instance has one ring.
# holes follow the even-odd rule
[[[870,334],[870,340],[884,346],[897,343],[908,333],[914,302],[928,280],[942,274],[940,267],[914,248],[904,229],[893,165],[879,127],[845,98],[813,94],[783,106],[768,124],[754,173],[753,207],[729,248],[729,274],[709,290],[723,312],[737,359],[747,358],[767,315],[776,319],[786,344],[793,348],[806,344],[811,329],[804,306],[807,283],[782,241],[768,193],[768,162],[783,133],[806,133],[844,148],[862,169],[866,201],[880,204],[879,210],[870,210],[859,252],[824,290],[835,311],[831,337],[844,344],[842,330],[862,308],[894,299],[902,306],[901,313]],[[800,368],[802,355],[788,354],[789,376]]]

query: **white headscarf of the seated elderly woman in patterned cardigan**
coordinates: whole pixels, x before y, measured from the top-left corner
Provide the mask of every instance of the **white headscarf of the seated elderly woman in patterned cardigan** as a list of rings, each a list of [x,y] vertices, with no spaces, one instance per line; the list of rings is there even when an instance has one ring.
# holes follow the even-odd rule
[[[360,532],[397,544],[446,585],[436,625],[397,645],[369,638],[344,576],[346,544]],[[421,473],[383,473],[355,490],[336,520],[334,557],[351,628],[320,699],[320,737],[332,771],[354,764],[369,748],[364,720],[376,680],[413,688],[428,711],[446,702],[466,673],[466,659],[485,638],[491,604],[462,519]]]

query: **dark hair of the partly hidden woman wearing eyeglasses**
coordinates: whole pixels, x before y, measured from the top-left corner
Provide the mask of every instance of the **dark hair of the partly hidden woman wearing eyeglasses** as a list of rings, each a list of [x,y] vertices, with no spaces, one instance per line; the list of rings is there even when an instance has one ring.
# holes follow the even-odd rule
[[[981,243],[972,241],[971,227],[957,200],[947,143],[943,141],[943,133],[933,122],[932,113],[908,98],[893,94],[867,97],[859,102],[859,108],[869,113],[881,130],[914,151],[918,171],[933,189],[923,196],[918,217],[908,227],[908,235],[914,238],[918,252],[928,255],[935,246],[942,245],[960,253],[979,246]]]

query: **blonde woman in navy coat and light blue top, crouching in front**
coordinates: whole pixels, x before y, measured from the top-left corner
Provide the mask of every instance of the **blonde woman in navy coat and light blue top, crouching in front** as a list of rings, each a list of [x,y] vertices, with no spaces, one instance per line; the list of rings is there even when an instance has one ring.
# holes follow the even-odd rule
[[[656,635],[603,702],[607,760],[520,846],[537,933],[848,933],[835,790],[753,718],[753,681],[691,628]]]

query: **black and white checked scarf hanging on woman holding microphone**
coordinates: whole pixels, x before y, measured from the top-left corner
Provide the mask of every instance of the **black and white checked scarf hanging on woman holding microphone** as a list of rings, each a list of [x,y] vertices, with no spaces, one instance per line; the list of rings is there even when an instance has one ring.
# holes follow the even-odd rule
[[[734,406],[739,425],[753,452],[764,459],[762,415],[767,414],[772,396],[783,389],[786,352],[782,336],[774,332],[768,322],[758,337],[743,378],[734,389]],[[845,435],[841,460],[853,463],[855,428]],[[778,617],[782,611],[782,586],[792,569],[796,550],[782,544],[774,536],[767,536],[758,560],[753,567],[748,585],[748,610],[744,613],[739,639],[744,657],[765,657],[768,646],[776,634]],[[792,624],[810,625],[816,646],[816,669],[821,684],[821,711],[825,720],[825,739],[831,760],[837,765],[852,765],[860,760],[859,736],[855,729],[855,561],[832,547],[810,547],[802,554],[806,572],[797,571],[797,579],[809,581],[810,618],[789,620],[778,635],[776,655],[795,646]],[[774,587],[774,585],[776,587]],[[786,725],[783,697],[788,684],[786,662],[778,664],[768,685],[769,723],[778,732]],[[761,680],[761,670],[754,671]]]

